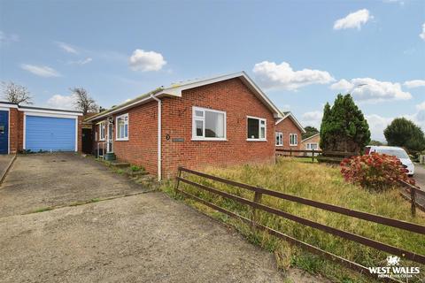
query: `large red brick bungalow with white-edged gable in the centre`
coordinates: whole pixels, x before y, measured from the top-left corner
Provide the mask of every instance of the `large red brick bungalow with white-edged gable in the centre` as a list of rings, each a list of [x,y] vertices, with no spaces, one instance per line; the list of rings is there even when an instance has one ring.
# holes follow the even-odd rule
[[[171,177],[178,166],[274,163],[279,111],[246,73],[157,88],[89,119],[98,156]]]

